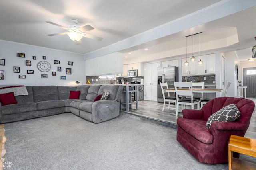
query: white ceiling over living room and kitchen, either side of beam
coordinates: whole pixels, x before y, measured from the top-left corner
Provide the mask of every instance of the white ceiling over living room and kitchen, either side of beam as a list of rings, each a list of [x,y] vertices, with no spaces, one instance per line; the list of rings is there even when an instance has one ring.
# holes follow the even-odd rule
[[[1,0],[0,1],[0,39],[86,54],[118,43],[134,35],[138,35],[160,25],[176,20],[202,8],[212,6],[222,0]],[[129,57],[145,55],[144,47],[150,48],[146,55],[179,49],[184,47],[186,33],[203,31],[202,48],[207,42],[228,41],[232,36],[239,42],[230,47],[241,49],[236,51],[241,60],[248,53],[256,36],[256,7],[220,18],[204,25],[190,28],[192,31],[172,34],[155,41],[122,50]],[[64,27],[72,25],[70,20],[80,21],[78,26],[91,25],[94,30],[88,34],[102,37],[102,41],[82,38],[82,45],[75,45],[67,35],[46,36],[47,34],[66,32],[65,29],[46,23],[54,22]],[[200,28],[200,29],[199,29]],[[188,46],[191,45],[188,37]],[[194,37],[194,47],[198,45],[198,37]],[[189,44],[190,43],[190,44]],[[206,45],[205,45],[206,46]],[[244,48],[244,47],[247,47]],[[216,49],[222,47],[215,47]],[[190,48],[191,49],[191,48]],[[210,50],[205,48],[204,50]],[[196,51],[196,50],[195,50]],[[143,54],[142,54],[143,53]],[[242,56],[242,57],[241,57]],[[250,58],[250,57],[249,57]],[[246,58],[247,59],[247,58]]]

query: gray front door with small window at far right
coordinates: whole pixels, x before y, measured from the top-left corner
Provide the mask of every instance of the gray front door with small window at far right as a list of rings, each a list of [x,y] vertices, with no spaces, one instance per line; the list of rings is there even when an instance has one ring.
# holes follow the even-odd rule
[[[256,81],[256,67],[244,68],[243,70],[243,85],[247,86],[247,97],[255,98],[255,81]]]

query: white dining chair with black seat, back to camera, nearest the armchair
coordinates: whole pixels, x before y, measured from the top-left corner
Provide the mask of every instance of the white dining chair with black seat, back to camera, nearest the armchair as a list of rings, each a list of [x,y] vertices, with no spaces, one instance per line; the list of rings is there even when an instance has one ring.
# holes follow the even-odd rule
[[[193,98],[193,83],[192,82],[174,82],[174,88],[176,93],[176,116],[178,116],[178,112],[182,111],[183,105],[191,106],[191,109],[194,109],[194,105],[197,105],[197,109],[199,109],[200,100]],[[180,88],[188,88],[188,90],[180,90]],[[184,98],[179,98],[179,96],[186,96]],[[181,104],[181,109],[179,110],[179,105]]]

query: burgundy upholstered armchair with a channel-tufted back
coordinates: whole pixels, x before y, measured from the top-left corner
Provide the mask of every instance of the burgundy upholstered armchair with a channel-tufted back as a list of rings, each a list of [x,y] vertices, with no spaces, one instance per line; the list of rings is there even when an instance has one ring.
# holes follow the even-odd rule
[[[236,104],[240,117],[233,122],[206,122],[210,115],[229,104]],[[183,117],[177,119],[177,141],[200,162],[222,164],[228,162],[230,135],[244,137],[254,111],[254,102],[244,98],[219,97],[207,102],[201,110],[182,110]],[[234,153],[238,158],[239,154]]]

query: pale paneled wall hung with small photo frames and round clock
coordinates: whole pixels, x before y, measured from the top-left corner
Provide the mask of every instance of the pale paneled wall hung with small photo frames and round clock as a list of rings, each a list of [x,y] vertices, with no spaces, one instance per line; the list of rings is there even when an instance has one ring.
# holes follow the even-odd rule
[[[17,57],[17,53],[25,53],[25,58]],[[36,60],[32,56],[36,56]],[[46,56],[46,60],[42,56]],[[0,70],[4,70],[4,80],[0,80],[0,85],[78,85],[75,83],[77,80],[86,84],[82,54],[0,40],[0,59],[5,59],[5,66],[0,65]],[[31,61],[31,66],[26,66],[26,60]],[[60,64],[54,64],[54,60],[59,60]],[[38,70],[39,61],[48,61],[50,71],[44,73]],[[72,61],[73,65],[68,65],[68,61]],[[13,72],[14,66],[20,67],[20,73]],[[58,66],[61,72],[57,71]],[[66,68],[72,69],[71,75],[66,74]],[[27,74],[27,70],[34,70],[34,74]],[[56,76],[52,76],[52,72],[56,72]],[[41,74],[47,74],[48,78],[41,78]],[[26,78],[20,79],[19,75],[26,75]],[[60,76],[66,76],[66,80],[61,80]]]

